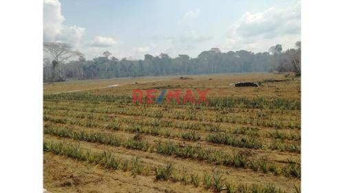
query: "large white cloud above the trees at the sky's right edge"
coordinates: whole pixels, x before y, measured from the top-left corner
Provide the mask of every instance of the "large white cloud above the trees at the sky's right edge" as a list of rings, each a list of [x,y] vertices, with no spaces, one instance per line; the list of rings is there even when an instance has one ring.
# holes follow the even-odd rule
[[[284,48],[293,47],[301,38],[300,3],[285,8],[269,8],[264,12],[246,12],[229,31],[224,49],[264,52],[278,43]]]

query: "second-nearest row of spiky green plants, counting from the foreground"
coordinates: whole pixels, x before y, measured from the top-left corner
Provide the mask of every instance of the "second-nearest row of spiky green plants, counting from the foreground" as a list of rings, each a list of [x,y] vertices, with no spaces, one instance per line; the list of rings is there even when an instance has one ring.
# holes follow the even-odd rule
[[[45,134],[50,135],[56,135],[59,137],[67,137],[72,139],[78,139],[78,140],[84,140],[84,141],[91,141],[91,142],[98,142],[100,144],[114,144],[114,146],[124,146],[125,148],[132,148],[136,150],[143,150],[150,152],[157,152],[161,155],[175,155],[176,157],[182,157],[182,158],[191,158],[191,159],[198,159],[200,161],[208,161],[209,163],[215,163],[215,164],[222,164],[224,166],[231,166],[235,168],[252,168],[250,164],[250,159],[246,157],[246,155],[233,152],[232,154],[228,154],[226,152],[208,149],[208,148],[202,148],[200,146],[191,146],[187,145],[184,146],[182,144],[175,144],[171,141],[158,141],[153,145],[150,145],[149,143],[143,141],[140,137],[140,134],[136,135],[133,138],[127,139],[126,141],[120,141],[118,137],[112,136],[109,137],[110,134],[108,133],[96,133],[96,132],[87,132],[84,131],[77,132],[74,130],[71,130],[69,128],[60,128],[55,126],[50,126],[44,129]],[[79,137],[83,136],[83,137]],[[111,139],[111,140],[110,140]],[[116,141],[116,142],[113,142]],[[293,165],[296,163],[290,163],[288,166],[285,166],[283,168],[280,168],[279,166],[275,166],[275,169],[271,171],[272,173],[275,173],[275,170],[281,170],[278,174],[284,174],[286,177],[293,176],[293,177],[300,177],[301,175],[301,168],[297,167],[294,168],[296,170],[299,170],[300,172],[294,172],[293,170],[290,170],[290,166],[299,166],[299,165]]]

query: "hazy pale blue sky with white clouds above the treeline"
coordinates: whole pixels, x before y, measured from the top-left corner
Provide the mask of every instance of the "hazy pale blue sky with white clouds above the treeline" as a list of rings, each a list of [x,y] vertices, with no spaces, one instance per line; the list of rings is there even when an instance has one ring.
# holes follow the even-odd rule
[[[72,44],[87,58],[109,50],[117,58],[144,54],[197,57],[265,52],[301,39],[299,1],[44,0],[44,41]]]

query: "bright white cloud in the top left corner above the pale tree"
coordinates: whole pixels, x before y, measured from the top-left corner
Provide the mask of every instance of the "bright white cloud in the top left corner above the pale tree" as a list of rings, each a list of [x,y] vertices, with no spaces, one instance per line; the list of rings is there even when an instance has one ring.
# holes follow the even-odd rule
[[[61,3],[56,0],[43,0],[43,41],[59,41],[78,45],[85,28],[63,24]]]

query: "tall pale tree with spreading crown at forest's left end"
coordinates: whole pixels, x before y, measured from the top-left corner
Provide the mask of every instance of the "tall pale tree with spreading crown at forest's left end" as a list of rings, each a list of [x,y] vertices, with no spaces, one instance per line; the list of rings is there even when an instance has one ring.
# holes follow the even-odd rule
[[[59,68],[59,78],[58,80],[64,80],[63,77],[63,63],[67,61],[69,58],[73,58],[76,56],[82,55],[78,51],[72,50],[72,47],[67,43],[56,43],[56,42],[48,42],[43,43],[43,51],[47,54],[50,54],[53,58],[52,67],[53,67],[53,78],[56,79],[55,76],[55,69],[56,67]]]

